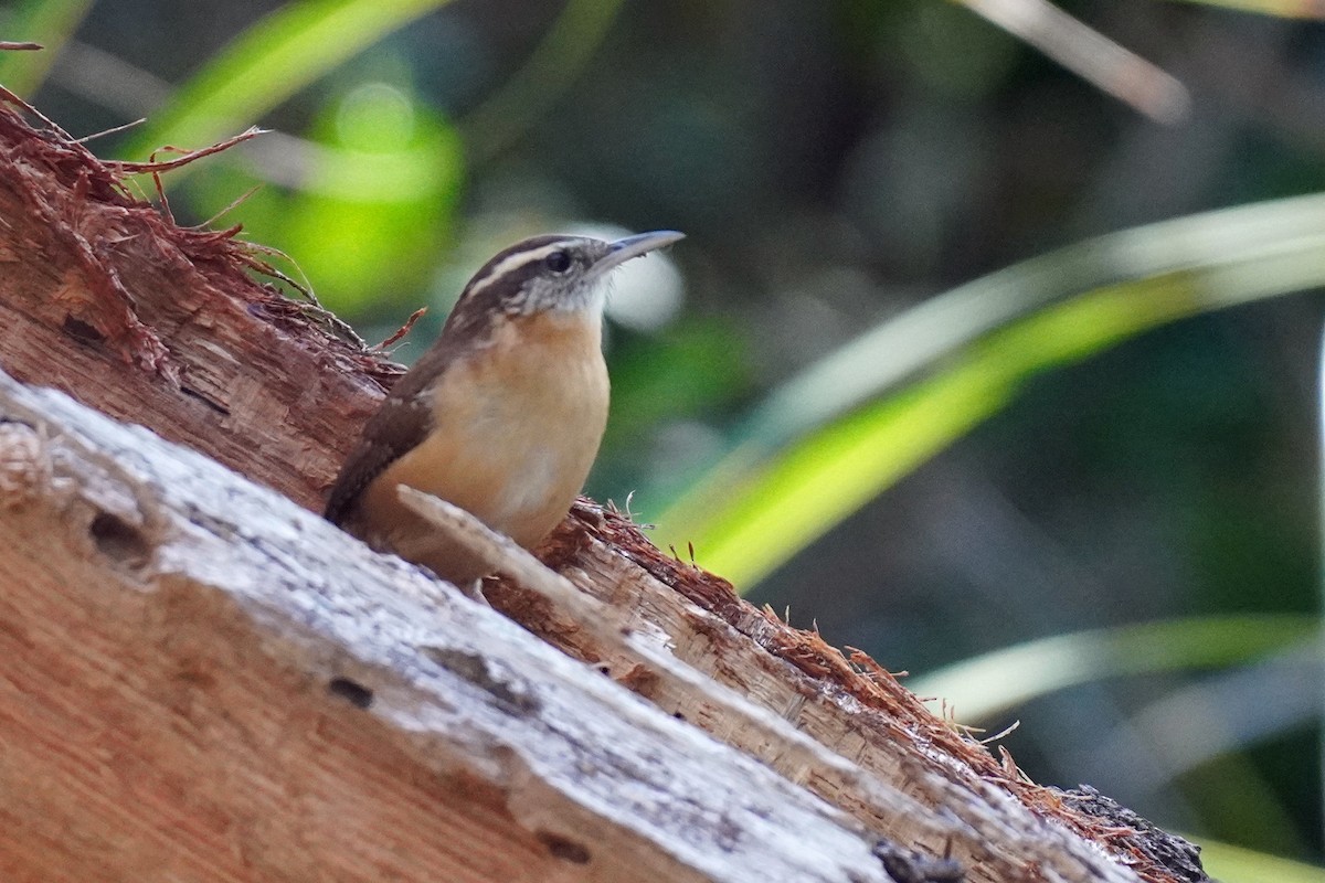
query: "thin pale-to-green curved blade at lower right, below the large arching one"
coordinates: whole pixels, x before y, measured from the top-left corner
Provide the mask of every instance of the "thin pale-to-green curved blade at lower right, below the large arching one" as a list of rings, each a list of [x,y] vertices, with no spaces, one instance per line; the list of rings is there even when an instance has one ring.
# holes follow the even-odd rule
[[[1314,616],[1196,617],[1114,626],[1028,641],[913,678],[921,696],[943,699],[962,723],[1006,714],[1056,690],[1108,678],[1219,669],[1312,638]]]

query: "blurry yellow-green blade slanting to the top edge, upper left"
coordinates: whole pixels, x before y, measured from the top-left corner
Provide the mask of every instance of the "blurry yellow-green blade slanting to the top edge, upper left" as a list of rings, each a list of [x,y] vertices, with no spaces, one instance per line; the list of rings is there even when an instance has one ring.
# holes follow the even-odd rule
[[[302,0],[240,34],[182,86],[127,150],[197,147],[240,131],[383,36],[449,0]]]

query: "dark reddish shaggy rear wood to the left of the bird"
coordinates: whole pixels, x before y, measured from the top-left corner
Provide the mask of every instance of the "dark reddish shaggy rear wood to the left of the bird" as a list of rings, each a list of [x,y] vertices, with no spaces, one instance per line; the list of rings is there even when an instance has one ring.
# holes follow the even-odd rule
[[[118,180],[0,102],[0,364],[319,508],[398,369]]]

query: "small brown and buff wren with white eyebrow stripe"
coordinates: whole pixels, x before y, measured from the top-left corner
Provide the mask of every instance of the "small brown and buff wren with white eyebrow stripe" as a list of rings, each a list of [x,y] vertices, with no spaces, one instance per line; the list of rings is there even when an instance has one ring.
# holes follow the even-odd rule
[[[400,503],[400,485],[468,510],[533,548],[566,516],[607,425],[608,278],[681,233],[616,242],[538,236],[488,261],[441,336],[387,395],[326,518],[464,586],[486,568]]]

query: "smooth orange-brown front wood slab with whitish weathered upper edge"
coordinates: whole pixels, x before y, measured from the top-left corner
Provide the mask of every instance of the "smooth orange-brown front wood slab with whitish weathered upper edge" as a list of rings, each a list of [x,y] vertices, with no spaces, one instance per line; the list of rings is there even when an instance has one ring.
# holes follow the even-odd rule
[[[288,499],[8,377],[0,414],[0,878],[886,880],[841,812]]]

